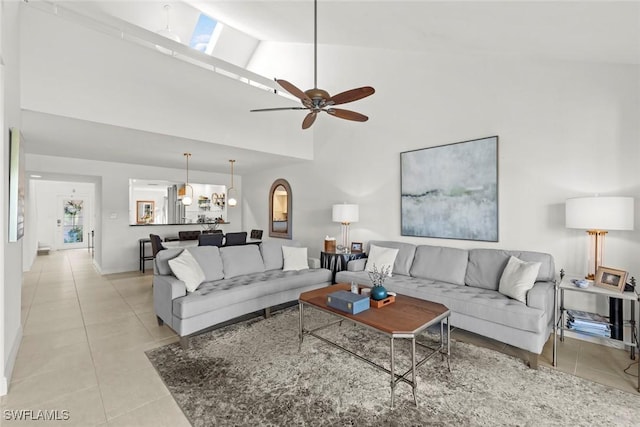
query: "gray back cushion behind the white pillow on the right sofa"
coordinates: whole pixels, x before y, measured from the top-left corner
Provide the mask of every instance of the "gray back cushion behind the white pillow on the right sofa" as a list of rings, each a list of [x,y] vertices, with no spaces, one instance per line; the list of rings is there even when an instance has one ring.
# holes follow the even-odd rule
[[[522,261],[539,262],[540,270],[536,281],[553,281],[555,264],[553,257],[542,252],[506,251],[502,249],[471,249],[465,283],[477,288],[498,290],[500,277],[507,266],[509,257],[514,256]]]

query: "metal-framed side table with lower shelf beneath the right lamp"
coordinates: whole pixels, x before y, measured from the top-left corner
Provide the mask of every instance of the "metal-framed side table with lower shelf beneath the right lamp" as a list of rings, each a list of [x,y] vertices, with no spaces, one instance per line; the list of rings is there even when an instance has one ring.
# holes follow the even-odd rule
[[[631,326],[631,337],[630,337],[630,341],[625,341],[624,340],[624,335],[621,337],[623,338],[622,340],[619,339],[615,339],[615,338],[606,338],[606,337],[601,337],[599,335],[591,335],[585,332],[579,332],[580,334],[583,335],[589,335],[589,336],[596,336],[600,339],[603,340],[610,340],[610,341],[616,341],[616,342],[623,342],[623,344],[625,345],[626,348],[629,348],[629,358],[632,360],[635,360],[636,358],[636,351],[638,351],[640,353],[640,342],[639,342],[639,335],[638,335],[638,327],[636,324],[636,302],[640,302],[640,297],[638,296],[638,294],[636,293],[635,290],[633,291],[625,291],[625,292],[616,292],[616,291],[610,291],[608,289],[605,288],[599,288],[597,286],[593,285],[593,282],[590,283],[589,287],[587,288],[579,288],[577,286],[575,286],[572,282],[571,282],[571,277],[564,277],[563,274],[561,274],[561,281],[560,283],[558,283],[558,281],[556,281],[556,285],[555,285],[555,293],[554,293],[554,324],[553,324],[553,366],[557,366],[557,339],[558,339],[558,334],[560,334],[560,341],[564,341],[564,331],[565,330],[569,330],[567,328],[567,324],[566,324],[566,308],[564,306],[564,293],[565,291],[567,292],[583,292],[583,293],[587,293],[587,294],[591,294],[591,295],[595,295],[597,297],[608,297],[608,298],[617,298],[621,301],[629,301],[630,305],[631,305],[631,319],[629,320],[629,325]],[[575,278],[575,277],[574,277]],[[559,295],[558,295],[559,294]],[[558,297],[560,298],[559,301],[559,306],[558,306]],[[637,390],[640,392],[640,364],[638,364],[638,385],[637,385]]]

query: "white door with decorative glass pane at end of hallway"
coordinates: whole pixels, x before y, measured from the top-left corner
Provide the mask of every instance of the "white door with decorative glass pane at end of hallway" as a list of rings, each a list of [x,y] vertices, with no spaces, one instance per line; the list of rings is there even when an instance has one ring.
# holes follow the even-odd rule
[[[58,197],[58,248],[87,246],[89,202],[84,197]]]

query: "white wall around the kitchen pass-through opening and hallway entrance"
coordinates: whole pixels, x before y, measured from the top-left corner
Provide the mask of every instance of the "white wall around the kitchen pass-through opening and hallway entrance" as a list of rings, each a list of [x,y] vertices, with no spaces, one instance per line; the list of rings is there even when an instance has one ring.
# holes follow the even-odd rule
[[[103,274],[138,270],[138,239],[148,238],[150,233],[160,236],[177,236],[179,230],[201,230],[197,224],[191,225],[129,225],[129,179],[159,179],[180,181],[184,179],[183,169],[167,169],[151,166],[116,164],[109,162],[70,159],[28,154],[27,170],[38,172],[46,179],[47,173],[75,174],[96,177],[96,237],[95,258],[97,268]],[[189,171],[194,182],[228,183],[228,174]],[[221,228],[226,231],[244,230],[242,222],[242,177],[234,176],[238,190],[239,208],[228,209],[230,224]]]

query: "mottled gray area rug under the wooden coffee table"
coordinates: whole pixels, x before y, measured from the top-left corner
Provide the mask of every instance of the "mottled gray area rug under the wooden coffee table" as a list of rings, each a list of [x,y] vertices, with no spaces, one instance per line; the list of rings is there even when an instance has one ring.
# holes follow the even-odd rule
[[[331,319],[306,316],[305,325]],[[418,370],[418,407],[401,383],[391,409],[388,375],[314,337],[298,352],[297,334],[295,307],[147,356],[194,426],[640,425],[637,395],[455,341],[452,372],[432,358]],[[388,367],[384,335],[346,322],[322,334]],[[408,356],[409,346],[396,351]]]

